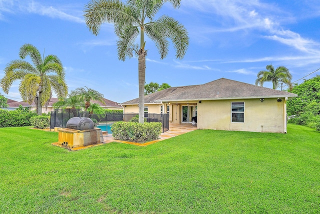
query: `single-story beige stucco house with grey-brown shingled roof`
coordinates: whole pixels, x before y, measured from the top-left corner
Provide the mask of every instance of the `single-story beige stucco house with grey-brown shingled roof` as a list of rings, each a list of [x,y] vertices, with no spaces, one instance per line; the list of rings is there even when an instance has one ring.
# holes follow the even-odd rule
[[[199,129],[286,133],[286,101],[294,93],[220,78],[200,85],[170,87],[145,95],[144,111],[168,113],[172,123]],[[138,112],[138,98],[121,103]]]

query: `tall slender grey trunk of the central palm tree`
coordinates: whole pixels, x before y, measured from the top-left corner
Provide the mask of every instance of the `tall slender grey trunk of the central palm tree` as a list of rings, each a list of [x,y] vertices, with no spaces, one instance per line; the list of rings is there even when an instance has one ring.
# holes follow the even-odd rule
[[[145,55],[144,48],[138,51],[138,78],[139,78],[139,123],[144,122],[144,82],[145,82]]]

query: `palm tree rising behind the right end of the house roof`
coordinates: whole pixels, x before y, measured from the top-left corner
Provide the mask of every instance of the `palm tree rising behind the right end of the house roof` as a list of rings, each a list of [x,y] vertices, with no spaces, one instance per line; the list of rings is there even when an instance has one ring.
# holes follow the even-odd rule
[[[272,82],[273,89],[279,87],[279,83],[285,83],[292,87],[291,79],[292,75],[289,72],[289,69],[284,66],[278,66],[275,70],[272,64],[266,65],[267,70],[261,70],[257,74],[257,79],[255,80],[255,84],[260,84],[263,86],[263,83],[266,81]]]

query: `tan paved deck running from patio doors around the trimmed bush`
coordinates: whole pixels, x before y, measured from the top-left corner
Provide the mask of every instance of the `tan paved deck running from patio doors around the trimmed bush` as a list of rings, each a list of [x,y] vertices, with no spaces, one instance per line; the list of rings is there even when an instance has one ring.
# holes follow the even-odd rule
[[[145,143],[138,143],[138,142],[128,142],[128,141],[122,141],[122,140],[117,140],[114,139],[112,136],[103,136],[104,143],[109,143],[109,142],[122,142],[122,143],[127,143],[127,144],[133,144],[133,145],[138,145],[138,146],[146,146],[164,139],[168,139],[171,137],[175,137],[193,130],[198,129],[196,126],[192,126],[191,123],[180,123],[180,124],[175,124],[175,123],[170,123],[169,124],[169,130],[163,132],[160,134],[160,138],[145,142]]]

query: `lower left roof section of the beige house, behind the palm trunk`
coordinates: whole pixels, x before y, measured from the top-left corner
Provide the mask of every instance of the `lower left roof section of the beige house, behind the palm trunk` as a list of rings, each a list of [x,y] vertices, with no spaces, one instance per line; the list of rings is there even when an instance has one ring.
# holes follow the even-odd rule
[[[166,96],[174,95],[176,93],[180,93],[182,91],[191,89],[191,88],[193,88],[195,86],[198,86],[198,85],[168,87],[168,88],[165,88],[163,90],[156,91],[154,93],[150,93],[150,94],[144,95],[144,103],[160,103],[160,101],[158,101],[158,99],[161,99],[161,98],[166,97]],[[124,105],[124,104],[126,104],[126,105],[127,104],[138,104],[138,103],[139,103],[139,98],[135,98],[135,99],[131,99],[129,101],[123,102],[123,103],[121,103],[121,105]]]

